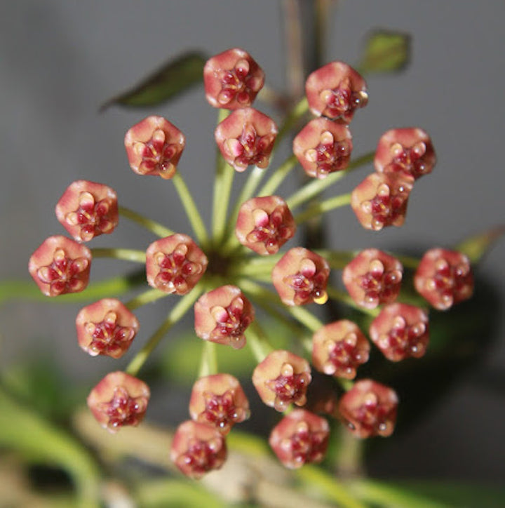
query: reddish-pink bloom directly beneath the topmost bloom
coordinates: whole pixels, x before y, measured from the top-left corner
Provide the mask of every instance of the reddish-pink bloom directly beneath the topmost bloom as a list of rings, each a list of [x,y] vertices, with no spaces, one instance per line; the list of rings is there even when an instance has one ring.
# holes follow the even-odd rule
[[[252,107],[237,109],[215,130],[224,160],[239,172],[250,165],[267,168],[276,136],[275,122]]]

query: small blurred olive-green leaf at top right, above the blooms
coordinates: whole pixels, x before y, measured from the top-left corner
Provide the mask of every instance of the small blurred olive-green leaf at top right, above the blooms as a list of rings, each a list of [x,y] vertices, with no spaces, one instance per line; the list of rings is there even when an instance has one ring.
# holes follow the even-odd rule
[[[410,35],[389,30],[377,30],[368,36],[365,54],[359,66],[363,74],[396,72],[410,61]]]

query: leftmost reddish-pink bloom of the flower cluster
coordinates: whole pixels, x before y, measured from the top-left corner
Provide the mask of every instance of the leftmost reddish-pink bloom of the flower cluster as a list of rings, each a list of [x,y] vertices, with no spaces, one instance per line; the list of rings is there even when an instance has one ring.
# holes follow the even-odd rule
[[[91,251],[66,236],[49,236],[29,258],[28,270],[46,296],[79,293],[86,289]]]

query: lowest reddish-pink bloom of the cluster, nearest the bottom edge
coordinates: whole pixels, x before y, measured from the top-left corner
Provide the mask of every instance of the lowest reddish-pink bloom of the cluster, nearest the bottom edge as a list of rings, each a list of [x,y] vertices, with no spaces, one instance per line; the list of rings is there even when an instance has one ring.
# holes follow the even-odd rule
[[[224,436],[212,425],[187,420],[177,427],[170,460],[182,474],[198,480],[209,471],[220,469],[226,459]]]

